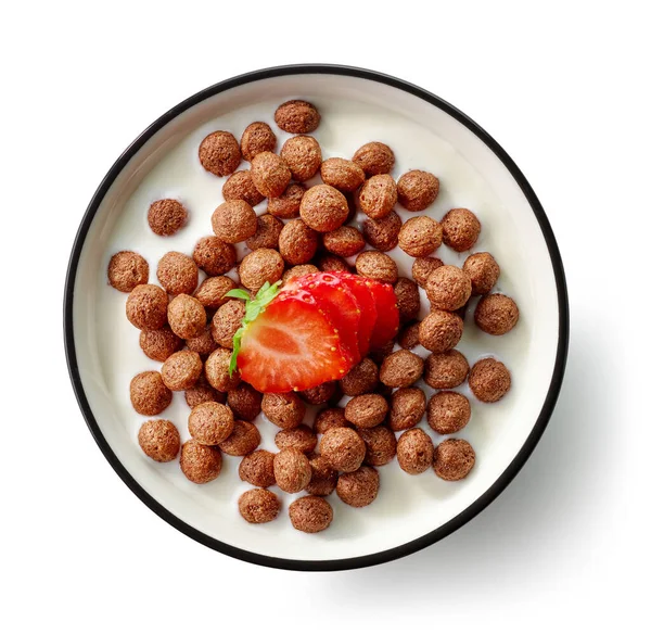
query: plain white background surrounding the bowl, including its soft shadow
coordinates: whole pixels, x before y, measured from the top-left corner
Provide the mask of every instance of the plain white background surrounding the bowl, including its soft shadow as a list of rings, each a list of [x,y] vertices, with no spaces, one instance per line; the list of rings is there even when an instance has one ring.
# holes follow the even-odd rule
[[[3,3],[2,632],[648,625],[644,3],[357,4]],[[341,573],[257,568],[159,520],[88,433],[63,354],[69,249],[117,155],[193,92],[299,62],[396,75],[485,127],[540,198],[570,288],[563,391],[515,481],[445,541]]]

